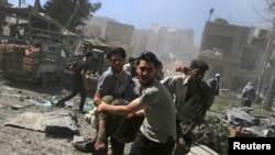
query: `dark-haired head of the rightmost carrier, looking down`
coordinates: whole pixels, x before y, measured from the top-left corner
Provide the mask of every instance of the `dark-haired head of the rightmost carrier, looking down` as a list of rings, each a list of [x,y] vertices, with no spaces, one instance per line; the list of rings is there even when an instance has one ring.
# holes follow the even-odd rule
[[[194,59],[189,66],[189,75],[191,80],[201,80],[209,69],[207,63],[202,59]]]

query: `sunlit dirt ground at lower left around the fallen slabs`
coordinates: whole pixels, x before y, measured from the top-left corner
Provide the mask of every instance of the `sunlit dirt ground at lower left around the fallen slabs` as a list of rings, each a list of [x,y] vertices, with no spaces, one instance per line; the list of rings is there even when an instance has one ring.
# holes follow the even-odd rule
[[[31,106],[13,110],[12,104],[22,104],[23,98],[43,98],[46,96],[61,96],[63,86],[58,82],[47,88],[41,88],[30,82],[9,81],[1,77],[0,73],[0,155],[81,155],[72,145],[73,137],[51,136],[43,132],[6,126],[4,123],[23,112],[46,112],[55,107]],[[77,96],[72,101],[76,111],[80,98]],[[95,135],[94,128],[88,124],[84,115],[77,113],[77,124],[80,136],[91,137]]]

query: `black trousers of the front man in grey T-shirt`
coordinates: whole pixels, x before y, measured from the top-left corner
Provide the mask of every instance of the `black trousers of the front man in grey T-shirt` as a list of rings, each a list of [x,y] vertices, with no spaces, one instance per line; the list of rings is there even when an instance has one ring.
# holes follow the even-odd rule
[[[175,141],[170,136],[166,143],[156,143],[139,131],[132,144],[130,155],[172,155],[174,146]]]

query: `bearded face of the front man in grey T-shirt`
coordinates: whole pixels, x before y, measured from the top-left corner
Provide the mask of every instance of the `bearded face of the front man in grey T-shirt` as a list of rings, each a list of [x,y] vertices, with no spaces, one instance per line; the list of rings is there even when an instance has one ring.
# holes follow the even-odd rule
[[[136,67],[136,74],[141,85],[146,86],[154,79],[155,66],[153,63],[141,59]]]

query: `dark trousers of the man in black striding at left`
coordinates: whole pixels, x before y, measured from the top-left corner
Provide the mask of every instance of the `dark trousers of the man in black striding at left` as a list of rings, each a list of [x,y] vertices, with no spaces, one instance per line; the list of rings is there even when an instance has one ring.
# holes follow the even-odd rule
[[[79,93],[80,98],[81,98],[80,104],[79,104],[79,111],[84,111],[84,104],[86,102],[86,90],[85,90],[82,84],[80,84],[80,85],[74,84],[69,95],[65,96],[63,99],[61,99],[61,101],[65,102],[72,98],[74,98],[77,93]]]

